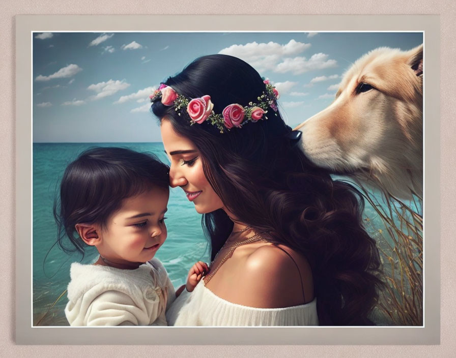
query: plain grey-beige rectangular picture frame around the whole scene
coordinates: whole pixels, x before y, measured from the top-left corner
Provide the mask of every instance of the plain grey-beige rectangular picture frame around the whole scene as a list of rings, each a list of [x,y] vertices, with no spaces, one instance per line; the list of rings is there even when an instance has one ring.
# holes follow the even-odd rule
[[[236,17],[236,22],[233,22]],[[119,19],[122,18],[122,21]],[[16,341],[18,344],[437,344],[440,339],[439,248],[439,17],[394,16],[34,16],[16,17],[16,215],[31,213],[31,33],[57,31],[423,31],[425,43],[425,204],[423,327],[33,327],[31,326],[31,222],[16,227]],[[236,23],[233,28],[233,23]],[[81,25],[83,24],[83,25]],[[204,24],[204,25],[201,25]],[[271,28],[270,24],[274,24]],[[305,24],[305,26],[303,25]],[[387,28],[385,28],[387,27]],[[431,210],[432,209],[432,210]],[[31,257],[26,252],[25,257]],[[96,332],[94,332],[95,330]],[[128,330],[135,330],[130,337]],[[153,332],[149,331],[153,330]],[[203,331],[201,331],[203,330]],[[50,332],[52,332],[50,334]],[[96,336],[96,342],[93,340]],[[127,338],[128,337],[128,338]]]

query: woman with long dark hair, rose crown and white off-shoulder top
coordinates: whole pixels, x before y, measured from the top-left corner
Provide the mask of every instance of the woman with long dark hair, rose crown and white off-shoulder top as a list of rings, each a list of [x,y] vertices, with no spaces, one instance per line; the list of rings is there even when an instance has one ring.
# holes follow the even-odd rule
[[[210,237],[204,280],[168,311],[176,325],[362,325],[379,256],[363,201],[296,145],[278,93],[239,58],[197,58],[151,101],[180,186]]]

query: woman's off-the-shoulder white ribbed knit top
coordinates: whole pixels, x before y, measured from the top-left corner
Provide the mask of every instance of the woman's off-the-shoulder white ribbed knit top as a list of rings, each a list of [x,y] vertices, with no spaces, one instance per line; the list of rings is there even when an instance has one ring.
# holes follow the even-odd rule
[[[318,325],[317,300],[285,308],[255,308],[221,299],[201,280],[186,290],[166,311],[169,325],[190,326],[283,326]]]

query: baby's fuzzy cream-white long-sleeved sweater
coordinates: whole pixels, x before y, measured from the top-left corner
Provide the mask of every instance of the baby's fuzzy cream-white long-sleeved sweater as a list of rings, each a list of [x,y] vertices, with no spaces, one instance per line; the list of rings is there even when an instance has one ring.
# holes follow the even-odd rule
[[[65,314],[73,326],[166,325],[176,293],[156,258],[135,270],[74,262]]]

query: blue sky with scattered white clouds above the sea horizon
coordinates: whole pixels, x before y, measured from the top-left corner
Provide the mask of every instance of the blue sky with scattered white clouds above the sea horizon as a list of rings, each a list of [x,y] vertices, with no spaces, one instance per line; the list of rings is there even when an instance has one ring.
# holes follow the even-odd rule
[[[276,84],[291,127],[328,106],[340,76],[421,33],[33,33],[34,142],[159,142],[149,95],[194,58],[244,59]]]

